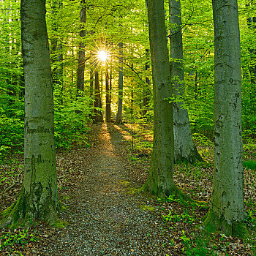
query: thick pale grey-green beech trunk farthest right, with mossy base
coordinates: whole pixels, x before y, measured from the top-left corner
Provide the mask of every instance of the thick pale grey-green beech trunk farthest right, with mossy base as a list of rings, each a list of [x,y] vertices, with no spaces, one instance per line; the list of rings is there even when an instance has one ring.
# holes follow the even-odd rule
[[[246,236],[241,132],[241,53],[236,0],[213,0],[214,180],[206,229]]]

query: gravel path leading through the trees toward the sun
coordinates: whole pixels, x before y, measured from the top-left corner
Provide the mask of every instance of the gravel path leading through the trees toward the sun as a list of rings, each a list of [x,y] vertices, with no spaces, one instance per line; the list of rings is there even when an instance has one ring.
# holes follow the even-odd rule
[[[139,207],[148,201],[125,192],[132,166],[122,155],[127,132],[113,124],[97,129],[99,139],[91,157],[81,156],[83,175],[61,214],[69,225],[53,232],[41,255],[165,255],[162,227]]]

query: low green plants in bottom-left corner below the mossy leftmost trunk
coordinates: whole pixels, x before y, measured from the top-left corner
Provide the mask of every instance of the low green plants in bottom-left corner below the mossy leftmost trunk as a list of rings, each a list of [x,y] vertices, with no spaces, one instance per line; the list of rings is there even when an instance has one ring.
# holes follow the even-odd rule
[[[18,233],[5,232],[4,235],[0,236],[0,252],[9,250],[13,251],[15,246],[24,247],[25,244],[38,241],[37,234],[29,233],[28,230],[20,230]]]

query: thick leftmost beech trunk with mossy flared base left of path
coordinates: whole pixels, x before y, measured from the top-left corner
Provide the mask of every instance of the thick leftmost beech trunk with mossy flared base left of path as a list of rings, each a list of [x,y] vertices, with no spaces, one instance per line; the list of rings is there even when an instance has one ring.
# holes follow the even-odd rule
[[[53,82],[44,0],[21,0],[25,75],[24,179],[18,200],[4,212],[1,226],[54,225],[61,207],[57,192],[53,133]]]

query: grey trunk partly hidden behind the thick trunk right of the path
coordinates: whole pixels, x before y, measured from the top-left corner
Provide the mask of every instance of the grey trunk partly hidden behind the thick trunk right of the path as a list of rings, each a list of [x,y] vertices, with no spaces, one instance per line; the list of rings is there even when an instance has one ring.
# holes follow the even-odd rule
[[[170,57],[171,79],[174,94],[182,97],[184,94],[184,64],[183,46],[181,34],[181,2],[169,0],[170,10]],[[189,126],[187,109],[182,102],[173,103],[173,133],[174,133],[174,162],[203,161],[193,142],[192,132]]]

